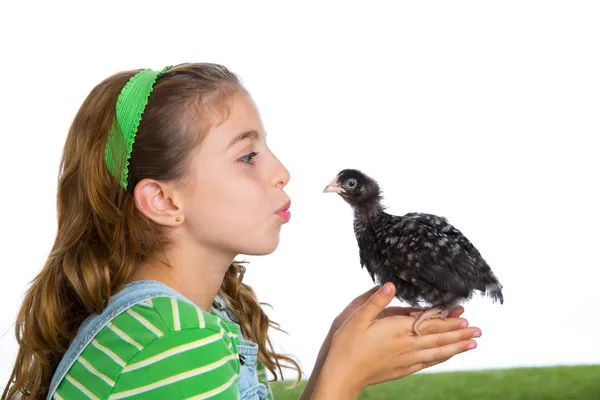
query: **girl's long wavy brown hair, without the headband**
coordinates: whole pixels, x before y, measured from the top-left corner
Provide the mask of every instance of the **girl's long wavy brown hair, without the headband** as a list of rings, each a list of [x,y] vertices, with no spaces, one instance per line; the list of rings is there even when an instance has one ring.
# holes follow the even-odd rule
[[[101,313],[135,267],[168,245],[164,229],[135,207],[133,188],[144,178],[184,177],[202,137],[198,129],[208,126],[206,114],[245,91],[235,74],[217,64],[183,64],[161,74],[138,128],[124,190],[106,167],[104,149],[121,88],[137,72],[120,72],[98,84],[71,125],[58,183],[56,240],[17,317],[19,351],[3,400],[44,399],[83,320]],[[244,336],[258,343],[258,358],[274,379],[277,371],[283,379],[283,366],[296,370],[299,380],[298,363],[277,353],[269,339],[269,328],[279,326],[243,277],[243,266],[234,262],[220,294],[240,319]]]

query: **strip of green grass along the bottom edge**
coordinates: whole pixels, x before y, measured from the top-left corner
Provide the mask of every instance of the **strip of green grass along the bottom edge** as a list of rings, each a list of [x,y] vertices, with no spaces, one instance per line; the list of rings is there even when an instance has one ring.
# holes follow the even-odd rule
[[[289,382],[272,384],[275,400],[297,400]],[[598,400],[600,365],[416,374],[372,386],[359,399],[379,400]]]

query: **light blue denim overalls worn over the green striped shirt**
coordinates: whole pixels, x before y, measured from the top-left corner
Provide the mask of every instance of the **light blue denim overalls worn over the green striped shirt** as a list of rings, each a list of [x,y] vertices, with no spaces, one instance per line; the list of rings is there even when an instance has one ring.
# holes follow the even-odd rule
[[[89,316],[77,331],[77,335],[69,345],[67,352],[52,377],[50,390],[46,400],[52,399],[58,385],[67,374],[71,365],[77,360],[77,357],[83,352],[86,346],[94,339],[96,334],[108,324],[113,318],[129,307],[153,297],[172,296],[182,301],[194,304],[191,300],[184,297],[181,293],[171,289],[167,285],[157,281],[136,281],[129,283],[119,292],[110,298],[108,306],[102,314],[92,314]],[[223,320],[230,323],[238,323],[239,320],[225,307],[225,302],[217,295],[214,300],[212,312],[218,314]],[[258,346],[256,343],[245,340],[240,333],[240,344],[237,345],[238,352],[243,360],[240,366],[240,376],[238,380],[238,391],[240,400],[267,400],[267,389],[265,385],[259,382],[256,371]],[[66,399],[68,400],[68,399]]]

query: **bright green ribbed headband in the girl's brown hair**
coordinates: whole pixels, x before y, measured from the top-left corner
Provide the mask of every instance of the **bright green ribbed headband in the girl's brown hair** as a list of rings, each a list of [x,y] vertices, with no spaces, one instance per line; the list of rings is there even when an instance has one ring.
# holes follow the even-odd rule
[[[144,69],[134,76],[121,89],[117,99],[116,120],[108,134],[104,159],[108,170],[127,189],[129,157],[135,141],[135,134],[148,104],[148,97],[156,78],[173,68],[168,66],[161,71]],[[120,174],[118,173],[120,172]]]

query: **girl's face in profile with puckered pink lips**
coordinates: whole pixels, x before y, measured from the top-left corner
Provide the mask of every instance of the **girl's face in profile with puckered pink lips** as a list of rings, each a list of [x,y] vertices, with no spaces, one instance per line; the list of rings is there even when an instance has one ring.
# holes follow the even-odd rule
[[[181,200],[192,240],[235,255],[274,251],[289,219],[283,188],[290,175],[267,146],[247,94],[232,98],[227,119],[208,131],[191,164]]]

